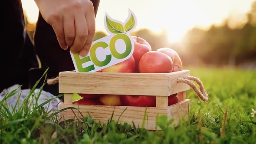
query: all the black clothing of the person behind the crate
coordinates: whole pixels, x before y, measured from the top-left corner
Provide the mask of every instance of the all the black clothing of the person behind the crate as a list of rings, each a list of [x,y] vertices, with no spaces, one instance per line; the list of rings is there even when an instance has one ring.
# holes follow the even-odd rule
[[[91,0],[95,15],[99,0]],[[20,0],[4,0],[0,6],[2,14],[0,32],[1,42],[0,65],[0,92],[14,84],[23,85],[22,88],[31,88],[49,68],[47,78],[54,78],[59,72],[75,70],[69,50],[60,48],[53,27],[43,19],[39,13],[34,35],[34,46],[26,33],[23,9]],[[11,55],[10,55],[11,54]],[[42,68],[38,69],[36,55],[39,57]],[[43,85],[43,79],[37,86]],[[43,90],[58,95],[58,84],[45,85]]]

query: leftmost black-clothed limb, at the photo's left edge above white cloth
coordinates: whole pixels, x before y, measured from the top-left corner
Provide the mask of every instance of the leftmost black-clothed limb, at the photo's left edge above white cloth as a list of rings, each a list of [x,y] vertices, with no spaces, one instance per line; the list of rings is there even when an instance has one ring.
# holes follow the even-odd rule
[[[0,13],[0,92],[14,84],[28,88],[28,71],[38,65],[33,44],[26,33],[21,1],[1,1]]]

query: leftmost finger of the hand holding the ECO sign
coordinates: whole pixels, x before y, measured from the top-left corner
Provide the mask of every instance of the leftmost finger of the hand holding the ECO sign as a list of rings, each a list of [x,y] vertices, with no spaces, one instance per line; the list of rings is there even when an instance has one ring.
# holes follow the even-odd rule
[[[65,50],[68,49],[68,46],[67,46],[66,40],[65,40],[64,29],[63,29],[63,19],[53,21],[52,26],[53,26],[54,32],[56,33],[56,37],[58,39],[59,46],[62,49],[65,49]]]

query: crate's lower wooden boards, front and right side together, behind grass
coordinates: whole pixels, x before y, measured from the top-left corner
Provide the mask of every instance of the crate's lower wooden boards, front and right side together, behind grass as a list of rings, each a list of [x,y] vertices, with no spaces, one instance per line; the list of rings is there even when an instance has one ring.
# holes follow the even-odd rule
[[[121,124],[127,122],[131,125],[133,125],[134,123],[137,128],[138,126],[141,128],[145,111],[147,111],[148,117],[146,117],[144,121],[144,128],[148,130],[156,130],[156,119],[159,115],[167,115],[168,119],[174,118],[173,124],[175,124],[176,126],[179,124],[181,117],[184,118],[185,121],[187,121],[190,111],[190,100],[185,99],[184,101],[178,102],[174,105],[170,105],[166,108],[106,105],[59,105],[60,109],[68,107],[77,108],[83,116],[89,117],[90,114],[96,122],[100,121],[101,124],[107,122],[108,119],[112,117],[113,112],[113,120],[117,121],[121,113],[125,110],[125,108],[127,108],[119,118],[118,122]],[[81,117],[78,111],[73,111],[75,112],[76,116]],[[65,119],[74,118],[75,115],[73,111],[71,109],[62,111],[60,113],[60,117],[64,117]]]

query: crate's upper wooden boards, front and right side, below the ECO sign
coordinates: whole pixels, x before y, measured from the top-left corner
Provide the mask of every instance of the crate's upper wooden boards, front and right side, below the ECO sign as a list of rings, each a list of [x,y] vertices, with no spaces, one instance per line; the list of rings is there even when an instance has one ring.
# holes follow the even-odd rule
[[[177,83],[189,70],[171,73],[60,72],[60,93],[169,96],[190,87]]]

